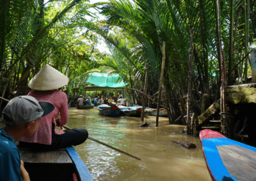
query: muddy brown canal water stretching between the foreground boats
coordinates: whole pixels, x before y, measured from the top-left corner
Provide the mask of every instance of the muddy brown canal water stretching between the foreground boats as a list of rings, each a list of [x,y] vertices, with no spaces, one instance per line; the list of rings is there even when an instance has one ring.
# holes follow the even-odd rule
[[[86,140],[75,148],[93,180],[211,180],[199,138],[180,133],[182,126],[172,126],[166,118],[156,128],[156,117],[145,119],[151,122],[149,127],[139,127],[140,118],[105,117],[96,107],[70,108],[69,114],[68,127],[87,129],[92,138],[141,158],[138,161]],[[197,148],[180,147],[174,139],[191,141]]]

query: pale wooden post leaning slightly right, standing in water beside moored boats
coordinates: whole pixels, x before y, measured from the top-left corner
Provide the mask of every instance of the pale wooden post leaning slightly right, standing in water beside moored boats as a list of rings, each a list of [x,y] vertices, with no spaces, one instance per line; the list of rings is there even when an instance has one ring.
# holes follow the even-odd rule
[[[158,93],[158,100],[157,100],[156,127],[158,127],[160,99],[161,99],[162,84],[163,84],[163,76],[164,76],[165,44],[166,44],[165,41],[163,41],[163,61],[162,61],[161,76],[160,76],[160,83],[159,83],[159,93]],[[167,105],[167,106],[168,106],[168,105]]]

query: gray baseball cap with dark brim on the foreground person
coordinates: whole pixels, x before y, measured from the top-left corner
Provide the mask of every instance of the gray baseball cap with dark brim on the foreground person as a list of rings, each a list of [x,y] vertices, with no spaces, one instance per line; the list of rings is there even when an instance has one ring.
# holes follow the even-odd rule
[[[54,110],[51,103],[38,102],[32,96],[13,98],[3,110],[4,122],[10,126],[19,126],[43,117]]]

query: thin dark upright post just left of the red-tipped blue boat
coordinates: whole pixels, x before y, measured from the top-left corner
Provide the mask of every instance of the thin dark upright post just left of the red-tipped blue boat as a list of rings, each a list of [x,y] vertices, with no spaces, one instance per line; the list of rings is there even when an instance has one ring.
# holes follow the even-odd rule
[[[188,63],[188,108],[187,108],[187,134],[191,132],[191,76],[192,76],[192,55],[193,55],[193,29],[190,31],[190,50],[189,50],[189,63]]]

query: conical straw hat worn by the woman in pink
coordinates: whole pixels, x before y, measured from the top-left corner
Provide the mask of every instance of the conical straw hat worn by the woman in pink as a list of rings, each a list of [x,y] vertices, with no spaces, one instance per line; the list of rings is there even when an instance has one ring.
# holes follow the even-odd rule
[[[51,91],[67,85],[68,77],[46,64],[29,81],[28,87],[37,91]]]

